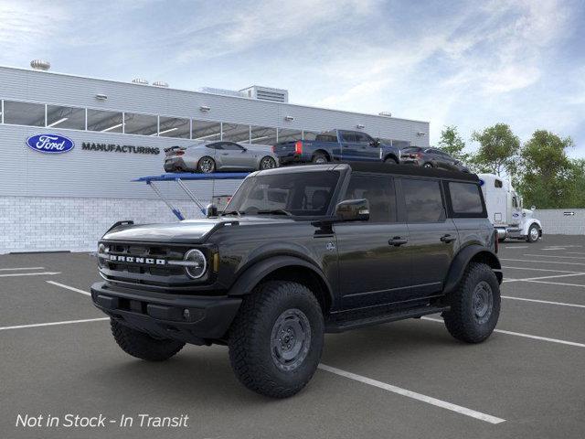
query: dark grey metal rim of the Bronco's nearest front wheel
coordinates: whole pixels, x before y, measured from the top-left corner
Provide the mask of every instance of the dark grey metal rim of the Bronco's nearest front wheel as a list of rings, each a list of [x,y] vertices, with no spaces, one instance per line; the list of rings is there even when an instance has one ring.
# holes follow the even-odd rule
[[[288,309],[276,319],[271,333],[271,356],[278,369],[298,369],[311,348],[311,325],[300,309]]]

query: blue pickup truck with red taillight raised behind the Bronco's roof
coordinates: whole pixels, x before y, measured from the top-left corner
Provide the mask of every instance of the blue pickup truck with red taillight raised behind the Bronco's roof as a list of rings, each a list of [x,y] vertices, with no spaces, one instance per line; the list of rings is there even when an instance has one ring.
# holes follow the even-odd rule
[[[399,164],[396,146],[374,139],[361,131],[333,130],[317,134],[314,140],[282,142],[272,146],[282,166],[327,162],[388,162]]]

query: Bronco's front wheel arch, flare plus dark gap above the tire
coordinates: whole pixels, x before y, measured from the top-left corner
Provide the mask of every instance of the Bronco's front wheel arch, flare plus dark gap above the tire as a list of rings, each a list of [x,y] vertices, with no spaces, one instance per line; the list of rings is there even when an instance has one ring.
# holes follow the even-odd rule
[[[251,265],[232,284],[229,295],[250,294],[256,285],[271,280],[292,281],[305,285],[319,301],[324,314],[333,305],[331,285],[324,274],[311,262],[286,255],[272,256]]]

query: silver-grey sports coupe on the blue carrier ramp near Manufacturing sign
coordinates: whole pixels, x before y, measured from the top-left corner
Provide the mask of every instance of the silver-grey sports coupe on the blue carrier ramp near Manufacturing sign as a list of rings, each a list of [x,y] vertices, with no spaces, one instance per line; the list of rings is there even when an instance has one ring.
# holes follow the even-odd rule
[[[165,172],[258,171],[279,164],[269,145],[224,141],[172,146],[165,154]]]

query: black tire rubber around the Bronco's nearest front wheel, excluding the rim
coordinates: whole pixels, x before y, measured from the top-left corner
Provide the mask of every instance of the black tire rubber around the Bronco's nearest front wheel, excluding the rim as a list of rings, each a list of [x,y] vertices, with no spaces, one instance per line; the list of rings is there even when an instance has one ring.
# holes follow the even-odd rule
[[[273,328],[283,313],[300,310],[310,330],[308,352],[300,365],[283,371],[273,359]],[[239,381],[251,391],[272,398],[293,396],[311,380],[324,342],[321,306],[306,286],[270,281],[247,295],[229,331],[229,360]]]

